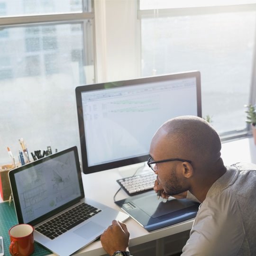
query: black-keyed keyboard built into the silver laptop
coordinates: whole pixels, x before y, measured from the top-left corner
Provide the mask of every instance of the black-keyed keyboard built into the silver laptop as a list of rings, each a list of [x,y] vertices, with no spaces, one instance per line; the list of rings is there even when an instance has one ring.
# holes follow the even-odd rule
[[[35,229],[47,238],[54,239],[99,212],[101,212],[100,209],[87,203],[81,203]]]

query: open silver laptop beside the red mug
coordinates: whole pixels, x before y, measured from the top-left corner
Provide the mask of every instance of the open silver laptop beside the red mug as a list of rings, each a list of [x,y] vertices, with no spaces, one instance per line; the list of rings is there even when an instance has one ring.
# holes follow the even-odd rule
[[[10,170],[9,180],[18,223],[32,225],[35,241],[60,256],[99,238],[113,219],[128,219],[85,198],[76,146]]]

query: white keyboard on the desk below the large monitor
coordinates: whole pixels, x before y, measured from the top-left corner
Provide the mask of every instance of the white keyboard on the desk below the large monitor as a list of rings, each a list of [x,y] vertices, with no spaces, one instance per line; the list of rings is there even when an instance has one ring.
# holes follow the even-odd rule
[[[119,185],[128,193],[128,195],[137,195],[149,190],[153,190],[156,180],[155,173],[134,175],[117,180]]]

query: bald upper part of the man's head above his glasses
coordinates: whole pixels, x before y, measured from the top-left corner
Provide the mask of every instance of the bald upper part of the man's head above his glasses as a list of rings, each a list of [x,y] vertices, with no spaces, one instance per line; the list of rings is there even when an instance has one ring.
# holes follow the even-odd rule
[[[220,158],[220,149],[217,132],[207,121],[194,116],[177,117],[165,122],[156,131],[150,146],[150,151],[162,150],[162,159],[191,160],[194,168],[200,169],[214,165]]]

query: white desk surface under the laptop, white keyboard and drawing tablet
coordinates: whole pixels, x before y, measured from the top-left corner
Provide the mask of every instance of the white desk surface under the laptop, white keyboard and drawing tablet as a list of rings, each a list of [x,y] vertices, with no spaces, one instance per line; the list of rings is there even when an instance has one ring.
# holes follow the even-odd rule
[[[232,142],[223,143],[221,156],[225,165],[230,165],[237,162],[251,162],[256,164],[256,145],[254,145],[253,138],[243,138]],[[127,172],[127,170],[125,172]],[[82,174],[85,196],[120,210],[119,207],[114,203],[113,196],[119,189],[119,184],[116,182],[116,180],[122,178],[122,176],[124,176],[122,171],[117,169],[95,174]],[[126,197],[127,194],[120,190],[117,194],[116,200]],[[189,220],[166,229],[149,233],[135,220],[130,218],[126,221],[128,230],[130,232],[129,246],[133,247],[157,239],[158,243],[156,244],[160,245],[159,248],[161,249],[161,238],[165,238],[185,230],[190,230],[192,228],[192,223],[193,220]],[[101,247],[100,241],[93,242],[76,253],[78,256],[101,256],[105,254],[106,253]]]

